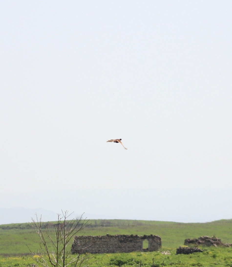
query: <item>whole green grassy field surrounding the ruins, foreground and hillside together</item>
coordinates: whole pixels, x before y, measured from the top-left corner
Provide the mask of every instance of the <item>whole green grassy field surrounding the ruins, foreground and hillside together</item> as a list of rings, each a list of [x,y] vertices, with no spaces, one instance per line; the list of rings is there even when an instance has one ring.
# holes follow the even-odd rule
[[[135,220],[90,220],[80,235],[111,234],[156,234],[161,236],[162,250],[169,250],[170,255],[160,252],[134,252],[97,254],[98,260],[92,266],[231,266],[231,248],[206,248],[206,252],[191,255],[175,255],[176,249],[183,245],[186,238],[197,238],[202,235],[216,236],[224,243],[232,242],[232,220],[220,220],[209,223],[177,223],[161,221]],[[50,234],[54,234],[53,222],[50,223]],[[39,237],[29,223],[0,225],[0,266],[30,266],[34,259],[29,255],[39,249]],[[124,264],[123,264],[124,263]],[[121,265],[120,265],[121,264]],[[188,265],[189,264],[189,265]],[[194,265],[195,264],[195,265]],[[201,265],[203,264],[203,265]]]

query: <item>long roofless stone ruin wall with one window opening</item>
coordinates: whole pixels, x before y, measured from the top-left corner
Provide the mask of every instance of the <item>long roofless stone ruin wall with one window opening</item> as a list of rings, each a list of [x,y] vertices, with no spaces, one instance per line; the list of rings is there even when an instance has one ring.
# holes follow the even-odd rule
[[[144,251],[143,241],[148,241],[148,249],[155,251],[161,247],[161,237],[158,235],[103,235],[76,236],[71,248],[72,253],[115,253]]]

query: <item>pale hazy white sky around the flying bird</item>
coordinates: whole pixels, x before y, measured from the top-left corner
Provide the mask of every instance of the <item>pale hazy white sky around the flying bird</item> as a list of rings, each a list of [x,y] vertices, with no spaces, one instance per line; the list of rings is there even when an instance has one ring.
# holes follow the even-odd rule
[[[0,207],[232,218],[231,14],[231,1],[1,1]]]

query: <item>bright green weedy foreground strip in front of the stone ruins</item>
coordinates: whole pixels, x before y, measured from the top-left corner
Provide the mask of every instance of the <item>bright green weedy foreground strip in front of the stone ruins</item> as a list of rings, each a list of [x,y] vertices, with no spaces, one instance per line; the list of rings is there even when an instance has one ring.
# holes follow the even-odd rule
[[[210,247],[204,248],[205,252],[189,255],[175,255],[175,249],[170,249],[169,255],[161,252],[132,252],[91,255],[89,263],[92,267],[115,267],[115,266],[232,266],[232,248]],[[35,266],[36,259],[31,256],[24,257],[0,257],[0,266]]]

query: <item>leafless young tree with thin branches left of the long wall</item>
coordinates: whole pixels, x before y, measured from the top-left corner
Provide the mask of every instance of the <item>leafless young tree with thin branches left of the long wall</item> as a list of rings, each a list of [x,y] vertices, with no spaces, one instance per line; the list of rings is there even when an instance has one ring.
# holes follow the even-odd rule
[[[35,214],[36,219],[31,218],[31,226],[38,233],[41,242],[39,244],[40,251],[32,252],[30,248],[29,250],[31,254],[37,256],[35,259],[38,265],[43,267],[67,267],[68,265],[85,267],[91,264],[89,262],[90,254],[81,254],[85,248],[82,248],[75,256],[71,254],[71,249],[67,248],[70,242],[73,241],[73,237],[89,225],[89,220],[86,220],[86,218],[82,220],[83,214],[79,219],[68,220],[71,214],[67,210],[62,210],[62,214],[57,214],[57,223],[54,224],[55,237],[49,233],[48,222],[43,228],[41,224],[42,217],[38,218],[37,214]],[[51,246],[48,245],[49,243]]]

